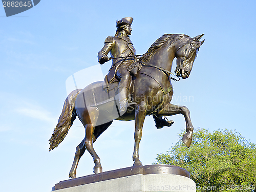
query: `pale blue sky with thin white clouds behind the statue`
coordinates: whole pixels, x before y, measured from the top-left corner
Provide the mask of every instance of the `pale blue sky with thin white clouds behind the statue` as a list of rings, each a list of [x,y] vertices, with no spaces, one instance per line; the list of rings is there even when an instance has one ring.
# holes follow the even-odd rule
[[[187,106],[195,128],[236,130],[256,143],[255,8],[255,1],[41,1],[10,17],[0,8],[0,190],[50,191],[69,179],[75,147],[84,137],[78,119],[48,152],[67,97],[66,80],[98,65],[104,39],[115,34],[116,19],[126,16],[134,17],[131,40],[137,54],[165,33],[204,33],[189,78],[173,82],[172,103]],[[110,66],[101,66],[103,75]],[[175,121],[172,127],[157,130],[153,118],[146,117],[143,165],[181,139],[183,116],[168,119]],[[103,171],[133,165],[133,134],[134,121],[115,121],[98,138],[94,148]],[[86,152],[77,177],[93,174],[93,166]]]

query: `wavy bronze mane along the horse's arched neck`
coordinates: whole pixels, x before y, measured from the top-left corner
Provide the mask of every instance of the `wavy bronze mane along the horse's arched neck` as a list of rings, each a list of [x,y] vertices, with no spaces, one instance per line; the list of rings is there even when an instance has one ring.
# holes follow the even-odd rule
[[[189,36],[185,34],[164,34],[159,39],[157,39],[154,42],[154,44],[152,44],[152,46],[147,50],[145,54],[143,54],[140,57],[140,60],[144,62],[148,62],[160,47],[162,47],[163,45],[166,45],[168,42],[172,44],[176,40],[180,40],[184,37],[189,37]]]

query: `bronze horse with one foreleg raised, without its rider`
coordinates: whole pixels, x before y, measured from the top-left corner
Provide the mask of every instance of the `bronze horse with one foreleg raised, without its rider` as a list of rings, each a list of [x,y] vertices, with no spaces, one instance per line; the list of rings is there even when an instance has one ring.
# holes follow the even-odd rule
[[[182,114],[186,121],[186,133],[183,135],[182,141],[187,147],[190,146],[194,128],[186,106],[170,103],[173,96],[170,71],[173,59],[176,57],[176,76],[183,79],[189,76],[199,47],[204,42],[204,40],[200,41],[203,35],[191,38],[184,34],[164,34],[141,56],[139,59],[141,69],[137,76],[133,77],[129,90],[131,100],[137,103],[135,109],[129,109],[123,114],[119,113],[118,99],[116,99],[118,82],[109,84],[108,89],[104,89],[104,81],[94,82],[86,88],[74,90],[68,95],[58,124],[49,140],[49,151],[57,147],[65,138],[73,121],[78,116],[86,134],[76,147],[69,177],[76,178],[79,159],[86,150],[93,157],[94,173],[102,172],[100,158],[93,148],[93,143],[101,133],[108,129],[113,120],[135,120],[133,166],[142,166],[139,160],[139,143],[146,115],[153,114],[161,117]]]

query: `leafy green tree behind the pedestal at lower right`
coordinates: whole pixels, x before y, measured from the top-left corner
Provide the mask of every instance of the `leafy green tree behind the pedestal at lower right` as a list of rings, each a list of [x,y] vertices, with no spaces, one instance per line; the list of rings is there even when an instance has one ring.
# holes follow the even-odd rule
[[[181,137],[183,133],[178,135]],[[189,148],[180,140],[166,154],[157,154],[156,160],[156,164],[176,165],[188,170],[197,191],[256,191],[255,144],[237,132],[218,130],[210,133],[198,128]]]

